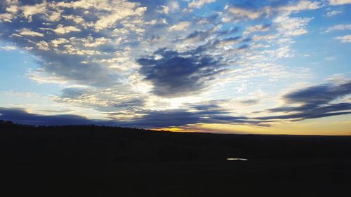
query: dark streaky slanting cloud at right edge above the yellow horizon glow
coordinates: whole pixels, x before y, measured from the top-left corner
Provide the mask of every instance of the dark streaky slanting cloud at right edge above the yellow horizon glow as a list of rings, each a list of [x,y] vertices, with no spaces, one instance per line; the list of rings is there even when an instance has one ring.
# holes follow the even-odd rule
[[[259,120],[294,119],[305,120],[351,114],[351,103],[339,102],[339,98],[351,95],[351,81],[338,84],[324,84],[296,90],[283,96],[287,106],[267,109],[270,112],[288,113],[287,115],[258,117]],[[290,107],[289,104],[300,104]]]

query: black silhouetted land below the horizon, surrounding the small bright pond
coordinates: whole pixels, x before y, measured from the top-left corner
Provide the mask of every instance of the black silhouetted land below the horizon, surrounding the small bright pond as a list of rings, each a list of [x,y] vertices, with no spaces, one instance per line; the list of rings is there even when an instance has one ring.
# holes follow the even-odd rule
[[[0,160],[5,197],[351,196],[351,137],[1,122]]]

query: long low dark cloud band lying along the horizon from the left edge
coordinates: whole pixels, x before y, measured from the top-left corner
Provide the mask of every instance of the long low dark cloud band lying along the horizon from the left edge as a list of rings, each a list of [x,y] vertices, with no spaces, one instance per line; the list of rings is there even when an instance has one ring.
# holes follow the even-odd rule
[[[226,111],[216,106],[195,107],[199,110],[171,109],[165,111],[142,111],[145,116],[133,118],[130,121],[121,121],[113,118],[121,113],[106,113],[112,117],[111,121],[90,120],[77,115],[40,115],[31,114],[24,109],[0,108],[0,119],[29,125],[115,125],[143,128],[166,128],[197,123],[227,123],[267,126],[267,121],[252,121],[245,116],[230,116]],[[194,109],[195,109],[194,108]],[[271,121],[270,121],[271,122]]]

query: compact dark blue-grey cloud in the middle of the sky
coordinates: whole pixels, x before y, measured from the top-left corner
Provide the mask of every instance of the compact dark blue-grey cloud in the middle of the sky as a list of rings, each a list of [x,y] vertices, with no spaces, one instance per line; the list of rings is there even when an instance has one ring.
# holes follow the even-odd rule
[[[166,48],[137,62],[141,65],[140,74],[154,85],[153,93],[162,97],[193,95],[223,72],[223,64],[216,57],[197,52],[178,53]]]

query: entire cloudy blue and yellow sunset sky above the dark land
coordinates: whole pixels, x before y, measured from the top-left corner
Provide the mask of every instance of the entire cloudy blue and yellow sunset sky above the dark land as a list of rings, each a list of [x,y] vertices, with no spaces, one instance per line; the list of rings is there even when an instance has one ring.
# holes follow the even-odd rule
[[[0,119],[351,135],[351,0],[0,1]]]

